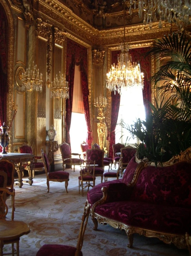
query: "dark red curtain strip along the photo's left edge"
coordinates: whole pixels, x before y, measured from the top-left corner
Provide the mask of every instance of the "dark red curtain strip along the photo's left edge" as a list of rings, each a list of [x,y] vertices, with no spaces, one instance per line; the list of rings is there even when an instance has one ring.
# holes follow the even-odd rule
[[[0,126],[7,121],[7,50],[8,21],[0,3]]]

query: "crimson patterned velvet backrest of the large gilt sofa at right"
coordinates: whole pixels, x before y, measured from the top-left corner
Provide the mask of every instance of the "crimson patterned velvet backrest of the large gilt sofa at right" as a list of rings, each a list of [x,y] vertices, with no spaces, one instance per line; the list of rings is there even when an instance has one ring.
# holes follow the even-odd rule
[[[147,166],[142,169],[131,198],[135,201],[163,206],[190,207],[190,170],[191,163],[189,162],[178,162],[171,166],[157,168]]]

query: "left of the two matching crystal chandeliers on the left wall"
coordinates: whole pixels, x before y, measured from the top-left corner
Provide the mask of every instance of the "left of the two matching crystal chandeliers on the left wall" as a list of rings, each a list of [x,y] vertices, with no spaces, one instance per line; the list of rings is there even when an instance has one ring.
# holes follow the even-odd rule
[[[22,73],[22,91],[42,91],[42,73],[37,70],[37,65],[32,63],[32,68],[27,68],[27,71]]]

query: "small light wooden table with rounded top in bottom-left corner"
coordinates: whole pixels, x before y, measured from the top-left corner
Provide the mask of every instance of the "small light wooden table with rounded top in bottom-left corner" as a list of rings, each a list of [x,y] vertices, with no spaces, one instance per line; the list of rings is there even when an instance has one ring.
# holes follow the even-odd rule
[[[14,243],[17,244],[17,256],[19,256],[19,240],[23,235],[30,233],[29,225],[23,221],[0,220],[0,256],[3,255],[4,244],[12,244],[14,255]]]

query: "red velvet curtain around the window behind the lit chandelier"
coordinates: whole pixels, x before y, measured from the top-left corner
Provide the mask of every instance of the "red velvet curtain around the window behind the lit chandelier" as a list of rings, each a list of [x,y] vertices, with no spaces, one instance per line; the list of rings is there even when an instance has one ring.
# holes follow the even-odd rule
[[[132,56],[132,62],[140,62],[141,72],[144,73],[144,88],[143,88],[143,103],[145,108],[145,115],[147,116],[149,110],[149,102],[151,102],[151,62],[150,56],[145,58],[145,54],[150,50],[150,47],[135,48],[129,50],[129,53]],[[120,54],[120,51],[112,52],[112,64],[117,64],[117,58]],[[111,106],[111,129],[108,132],[108,138],[110,139],[110,148],[109,148],[109,157],[113,157],[113,148],[112,145],[115,144],[115,127],[117,124],[118,114],[119,114],[119,105],[120,105],[120,95],[116,92],[111,92],[112,97],[112,106]]]

